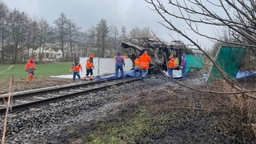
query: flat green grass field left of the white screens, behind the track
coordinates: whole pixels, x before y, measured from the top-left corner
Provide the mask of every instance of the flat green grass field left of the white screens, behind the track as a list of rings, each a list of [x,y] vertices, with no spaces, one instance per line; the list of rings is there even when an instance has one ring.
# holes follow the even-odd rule
[[[37,77],[71,74],[71,65],[72,62],[54,62],[47,64],[36,63],[37,70],[35,70],[34,74]],[[14,78],[26,78],[27,76],[25,64],[0,65],[0,79],[9,78],[11,72],[13,72]]]

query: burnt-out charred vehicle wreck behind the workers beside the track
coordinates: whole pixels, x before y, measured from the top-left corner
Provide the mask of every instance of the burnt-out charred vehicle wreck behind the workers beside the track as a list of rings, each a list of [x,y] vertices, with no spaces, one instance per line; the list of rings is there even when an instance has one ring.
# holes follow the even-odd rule
[[[122,49],[128,57],[134,62],[143,54],[145,50],[148,51],[154,64],[150,64],[149,73],[157,72],[160,70],[167,70],[167,61],[170,54],[178,58],[178,63],[182,62],[182,54],[191,54],[192,51],[187,49],[181,41],[173,41],[170,43],[159,42],[155,39],[134,40],[133,42],[122,42]],[[176,68],[179,70],[179,67]]]

